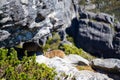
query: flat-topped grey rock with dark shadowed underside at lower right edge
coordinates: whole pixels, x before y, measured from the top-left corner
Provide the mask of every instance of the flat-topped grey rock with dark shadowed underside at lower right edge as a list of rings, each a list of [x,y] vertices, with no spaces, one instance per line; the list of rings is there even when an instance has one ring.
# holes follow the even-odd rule
[[[100,73],[107,74],[114,80],[120,79],[120,60],[119,59],[94,59],[91,62],[92,68]]]

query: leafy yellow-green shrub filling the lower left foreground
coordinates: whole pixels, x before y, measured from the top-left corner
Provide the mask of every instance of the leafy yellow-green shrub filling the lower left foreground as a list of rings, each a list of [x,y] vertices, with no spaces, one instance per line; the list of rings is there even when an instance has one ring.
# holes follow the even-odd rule
[[[56,72],[45,64],[36,63],[36,57],[26,57],[20,61],[12,48],[0,49],[0,79],[3,80],[54,80]]]

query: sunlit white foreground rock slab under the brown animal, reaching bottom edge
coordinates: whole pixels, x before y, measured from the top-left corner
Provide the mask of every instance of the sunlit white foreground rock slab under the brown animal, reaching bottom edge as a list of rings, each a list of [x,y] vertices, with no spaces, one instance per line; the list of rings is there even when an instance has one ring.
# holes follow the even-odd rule
[[[38,63],[45,63],[49,67],[55,68],[56,72],[58,73],[55,77],[55,80],[113,80],[105,74],[86,70],[77,70],[77,68],[71,63],[70,58],[67,60],[59,57],[49,59],[40,55],[36,57],[36,61]],[[74,60],[72,60],[72,62],[76,63]]]

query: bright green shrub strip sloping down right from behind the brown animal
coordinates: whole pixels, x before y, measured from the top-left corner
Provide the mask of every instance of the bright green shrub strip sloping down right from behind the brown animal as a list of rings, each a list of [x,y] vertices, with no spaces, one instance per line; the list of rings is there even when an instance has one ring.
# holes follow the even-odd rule
[[[68,45],[68,44],[64,44],[61,45],[59,47],[59,49],[63,50],[65,52],[66,55],[69,54],[77,54],[80,55],[88,60],[92,60],[94,57],[91,56],[90,54],[86,53],[85,51],[83,51],[82,49],[78,49],[76,46],[74,45]]]

